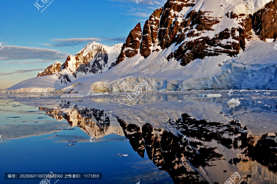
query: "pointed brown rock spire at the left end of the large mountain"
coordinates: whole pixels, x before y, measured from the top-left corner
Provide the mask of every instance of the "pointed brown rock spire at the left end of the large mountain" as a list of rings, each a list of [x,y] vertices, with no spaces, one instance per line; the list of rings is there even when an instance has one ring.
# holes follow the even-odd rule
[[[123,44],[121,52],[116,60],[115,64],[122,62],[124,58],[132,58],[139,53],[139,45],[141,40],[141,27],[138,23],[134,29],[130,31],[126,39],[126,43]]]

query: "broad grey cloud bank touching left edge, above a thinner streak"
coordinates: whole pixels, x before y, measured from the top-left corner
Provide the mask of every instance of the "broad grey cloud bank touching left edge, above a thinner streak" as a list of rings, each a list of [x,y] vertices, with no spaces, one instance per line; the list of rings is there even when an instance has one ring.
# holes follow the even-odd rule
[[[0,60],[65,60],[69,54],[59,50],[41,49],[37,47],[3,46]]]

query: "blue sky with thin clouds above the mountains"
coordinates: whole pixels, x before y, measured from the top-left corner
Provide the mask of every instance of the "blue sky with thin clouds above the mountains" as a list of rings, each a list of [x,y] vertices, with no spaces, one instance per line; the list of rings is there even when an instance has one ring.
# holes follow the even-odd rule
[[[45,6],[38,10],[36,2]],[[36,77],[55,61],[63,63],[88,42],[125,42],[166,0],[54,0],[41,13],[50,2],[0,2],[0,89]]]

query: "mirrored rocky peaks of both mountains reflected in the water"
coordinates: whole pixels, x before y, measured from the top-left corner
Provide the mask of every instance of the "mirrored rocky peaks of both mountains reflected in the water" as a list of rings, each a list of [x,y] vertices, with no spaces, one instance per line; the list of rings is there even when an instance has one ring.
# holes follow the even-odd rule
[[[221,183],[235,171],[242,176],[242,184],[253,182],[251,175],[277,181],[276,134],[264,134],[256,140],[236,120],[224,124],[207,122],[184,113],[178,120],[167,120],[175,130],[186,135],[187,141],[183,142],[183,135],[157,127],[155,123],[128,124],[105,110],[77,105],[70,109],[69,106],[70,102],[62,101],[58,110],[39,110],[58,121],[66,119],[70,126],[78,126],[96,139],[109,134],[125,136],[140,157],[144,158],[146,150],[148,158],[160,170],[168,172],[174,183]],[[223,177],[226,172],[227,178]]]

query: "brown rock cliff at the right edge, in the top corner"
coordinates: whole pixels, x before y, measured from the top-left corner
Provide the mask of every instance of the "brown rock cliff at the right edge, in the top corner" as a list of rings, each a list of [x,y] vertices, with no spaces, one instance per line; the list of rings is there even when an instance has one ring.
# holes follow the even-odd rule
[[[277,1],[268,2],[263,9],[253,14],[253,29],[263,41],[277,38]]]

